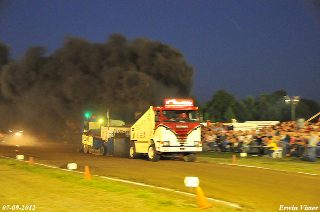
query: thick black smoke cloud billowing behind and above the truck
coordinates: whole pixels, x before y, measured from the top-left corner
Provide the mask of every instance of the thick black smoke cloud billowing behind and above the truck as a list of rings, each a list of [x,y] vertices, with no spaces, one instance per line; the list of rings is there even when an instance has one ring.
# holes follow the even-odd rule
[[[159,41],[111,34],[105,43],[65,36],[47,56],[29,47],[0,72],[0,118],[47,134],[80,123],[86,111],[134,122],[134,112],[187,98],[193,67],[182,53]],[[2,121],[3,122],[3,121]],[[72,125],[73,123],[73,125]]]

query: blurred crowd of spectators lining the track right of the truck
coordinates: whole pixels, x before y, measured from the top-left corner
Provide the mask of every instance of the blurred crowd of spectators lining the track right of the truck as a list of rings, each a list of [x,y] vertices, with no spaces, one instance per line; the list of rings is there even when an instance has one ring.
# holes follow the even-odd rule
[[[293,121],[252,131],[233,131],[227,123],[207,122],[201,127],[202,147],[204,150],[246,152],[268,157],[275,151],[282,156],[306,157],[313,154],[308,147],[314,147],[314,158],[319,157],[320,122],[304,123],[300,128]]]

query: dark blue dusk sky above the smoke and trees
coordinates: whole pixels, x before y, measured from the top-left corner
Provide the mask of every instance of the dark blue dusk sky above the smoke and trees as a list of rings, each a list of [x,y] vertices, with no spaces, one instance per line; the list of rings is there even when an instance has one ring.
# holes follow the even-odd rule
[[[306,0],[10,0],[0,41],[17,59],[29,46],[59,48],[66,34],[159,40],[194,67],[201,103],[225,89],[238,100],[285,90],[320,103],[320,19]]]

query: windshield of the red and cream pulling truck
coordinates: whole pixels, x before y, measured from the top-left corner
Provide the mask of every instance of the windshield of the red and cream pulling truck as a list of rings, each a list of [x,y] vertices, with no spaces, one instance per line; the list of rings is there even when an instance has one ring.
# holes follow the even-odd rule
[[[163,122],[197,123],[199,118],[196,110],[162,110]]]

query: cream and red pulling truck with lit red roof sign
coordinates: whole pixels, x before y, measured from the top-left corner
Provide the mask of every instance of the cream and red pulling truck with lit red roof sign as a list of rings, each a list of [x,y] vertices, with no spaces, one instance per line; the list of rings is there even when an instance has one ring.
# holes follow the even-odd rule
[[[129,158],[185,156],[193,162],[202,152],[197,111],[192,99],[165,99],[164,106],[150,106],[130,128]]]

